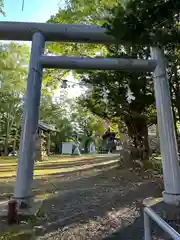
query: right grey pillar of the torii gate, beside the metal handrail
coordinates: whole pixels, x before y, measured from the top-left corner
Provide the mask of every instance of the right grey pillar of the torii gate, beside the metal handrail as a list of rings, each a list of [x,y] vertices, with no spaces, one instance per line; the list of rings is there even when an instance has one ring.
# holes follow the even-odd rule
[[[151,47],[151,56],[152,59],[157,60],[154,71],[154,90],[165,188],[163,198],[166,203],[178,204],[180,202],[180,167],[163,50],[159,47]]]

